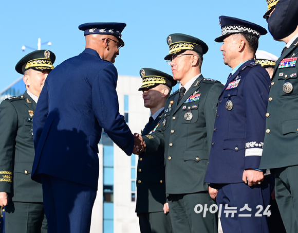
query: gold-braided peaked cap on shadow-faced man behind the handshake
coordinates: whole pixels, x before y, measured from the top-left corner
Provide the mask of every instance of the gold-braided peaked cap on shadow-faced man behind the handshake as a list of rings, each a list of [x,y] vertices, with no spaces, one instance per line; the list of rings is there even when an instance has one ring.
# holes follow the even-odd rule
[[[139,91],[143,91],[144,88],[155,87],[159,84],[169,86],[172,89],[172,87],[177,84],[177,81],[174,80],[171,75],[165,74],[157,69],[142,68],[140,70],[140,76],[143,80]]]

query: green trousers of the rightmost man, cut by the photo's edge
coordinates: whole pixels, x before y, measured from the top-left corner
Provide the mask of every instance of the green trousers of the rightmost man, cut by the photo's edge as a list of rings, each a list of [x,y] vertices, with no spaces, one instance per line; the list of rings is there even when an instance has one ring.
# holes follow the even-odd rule
[[[275,198],[287,232],[298,232],[298,166],[274,169]]]

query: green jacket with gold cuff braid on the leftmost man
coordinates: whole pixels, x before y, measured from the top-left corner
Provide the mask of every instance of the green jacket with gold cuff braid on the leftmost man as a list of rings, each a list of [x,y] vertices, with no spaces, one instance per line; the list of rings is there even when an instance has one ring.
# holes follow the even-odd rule
[[[31,180],[35,106],[27,92],[0,104],[0,192],[15,202],[43,202],[42,185]]]

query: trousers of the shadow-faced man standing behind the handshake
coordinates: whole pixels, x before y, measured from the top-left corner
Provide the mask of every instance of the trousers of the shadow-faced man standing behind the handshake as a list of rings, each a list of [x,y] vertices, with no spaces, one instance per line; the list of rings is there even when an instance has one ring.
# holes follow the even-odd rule
[[[138,213],[141,233],[172,233],[170,214]]]

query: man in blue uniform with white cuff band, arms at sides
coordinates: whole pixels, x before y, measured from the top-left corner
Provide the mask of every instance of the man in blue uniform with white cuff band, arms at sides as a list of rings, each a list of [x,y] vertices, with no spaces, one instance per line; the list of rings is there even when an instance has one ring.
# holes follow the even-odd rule
[[[218,98],[205,182],[210,183],[211,197],[216,197],[224,232],[269,232],[269,212],[264,210],[270,190],[258,168],[270,77],[254,60],[258,39],[267,31],[234,17],[220,16],[219,22],[221,35],[215,41],[224,42],[220,47],[224,63],[233,70]],[[226,213],[233,208],[235,214]],[[259,208],[265,214],[256,217]]]

